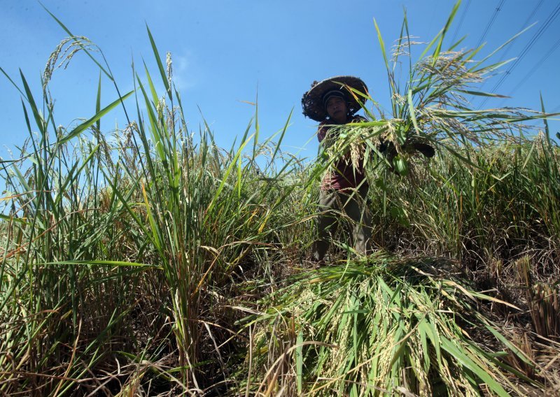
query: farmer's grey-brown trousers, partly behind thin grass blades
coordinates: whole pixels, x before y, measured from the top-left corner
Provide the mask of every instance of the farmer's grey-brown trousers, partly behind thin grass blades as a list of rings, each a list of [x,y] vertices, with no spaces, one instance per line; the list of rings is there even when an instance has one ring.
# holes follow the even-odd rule
[[[314,242],[313,255],[316,261],[322,261],[330,246],[330,239],[335,235],[341,217],[351,220],[352,245],[358,254],[370,251],[372,224],[370,212],[365,205],[367,186],[358,190],[340,192],[337,190],[321,190],[319,194],[319,210],[322,212],[317,219],[318,239]]]

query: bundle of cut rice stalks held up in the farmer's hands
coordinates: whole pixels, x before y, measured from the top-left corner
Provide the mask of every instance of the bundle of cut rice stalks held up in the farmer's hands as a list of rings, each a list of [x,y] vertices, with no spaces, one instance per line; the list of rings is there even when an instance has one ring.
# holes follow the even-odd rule
[[[449,49],[442,50],[447,27],[461,1],[458,1],[449,15],[446,27],[426,45],[419,59],[412,63],[412,50],[419,43],[411,41],[407,17],[402,22],[401,36],[393,49],[392,64],[389,64],[381,32],[377,29],[379,44],[386,63],[391,93],[391,117],[379,110],[379,118],[365,109],[369,122],[356,122],[344,126],[333,126],[330,142],[325,154],[328,163],[346,159],[356,168],[361,162],[370,163],[371,168],[382,166],[400,175],[408,175],[414,154],[423,152],[425,145],[435,147],[439,152],[449,152],[465,162],[465,166],[475,167],[469,147],[480,147],[496,141],[519,142],[520,131],[534,130],[524,122],[551,117],[544,112],[522,108],[496,108],[475,110],[467,101],[467,95],[497,96],[499,94],[477,91],[489,73],[496,71],[506,62],[489,64],[491,57],[503,48],[501,46],[482,61],[475,56],[482,47],[471,50],[457,50],[459,43],[451,43]],[[435,46],[435,48],[434,48]],[[429,54],[429,50],[433,52]],[[401,59],[409,58],[409,62]],[[403,62],[404,61],[404,62]],[[408,64],[408,75],[404,81],[395,77],[395,69]],[[377,104],[368,93],[357,92],[346,87],[358,101],[368,99]],[[350,152],[350,156],[346,153]],[[429,156],[430,157],[430,156]]]

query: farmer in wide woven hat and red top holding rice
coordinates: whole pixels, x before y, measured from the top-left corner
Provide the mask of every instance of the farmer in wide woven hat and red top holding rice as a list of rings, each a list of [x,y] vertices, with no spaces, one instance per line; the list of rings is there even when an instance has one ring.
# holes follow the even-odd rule
[[[367,92],[365,83],[359,78],[337,76],[314,82],[311,89],[303,95],[303,114],[320,122],[317,138],[323,146],[337,138],[329,135],[333,125],[365,120],[355,115],[361,107],[348,87],[358,92]],[[332,171],[325,173],[321,182],[321,214],[317,217],[318,239],[313,247],[314,259],[319,263],[323,263],[330,245],[330,235],[335,233],[341,214],[351,219],[352,243],[356,252],[366,254],[370,247],[371,219],[365,206],[369,185],[365,180],[363,164],[354,168],[350,163],[344,158],[335,161]]]

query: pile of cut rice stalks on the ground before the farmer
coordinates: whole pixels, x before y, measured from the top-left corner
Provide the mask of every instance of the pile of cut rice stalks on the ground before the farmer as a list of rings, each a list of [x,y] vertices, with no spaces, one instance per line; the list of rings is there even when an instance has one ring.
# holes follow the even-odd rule
[[[256,331],[255,369],[246,387],[256,390],[267,370],[283,374],[268,380],[269,390],[294,395],[297,376],[303,394],[311,395],[405,390],[478,396],[482,384],[509,395],[517,388],[507,372],[528,378],[500,361],[505,352],[486,352],[472,338],[477,329],[493,327],[477,310],[479,300],[493,298],[468,288],[443,270],[442,262],[384,254],[369,263],[348,261],[295,275],[288,287],[262,302],[265,314],[247,319]],[[297,333],[302,338],[295,345]],[[282,342],[286,338],[291,338],[288,345]],[[267,355],[279,357],[276,347],[287,352],[290,346],[282,360],[264,361]],[[296,347],[301,347],[302,375],[295,374]],[[533,365],[525,356],[521,360]]]

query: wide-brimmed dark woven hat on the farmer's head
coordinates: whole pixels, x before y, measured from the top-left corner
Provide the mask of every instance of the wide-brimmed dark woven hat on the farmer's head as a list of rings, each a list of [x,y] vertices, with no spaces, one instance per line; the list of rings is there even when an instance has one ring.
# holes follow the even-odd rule
[[[346,102],[348,103],[348,111],[353,115],[360,110],[360,104],[350,93],[348,87],[356,89],[363,94],[367,94],[367,85],[360,78],[351,75],[337,75],[326,80],[316,82],[311,85],[311,89],[303,94],[302,107],[303,114],[316,122],[322,122],[328,117],[325,106],[323,105],[323,95],[333,89],[339,89],[344,93]],[[360,101],[365,102],[366,99]]]

